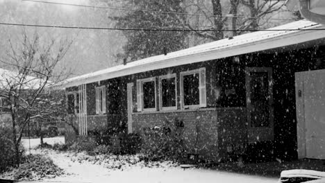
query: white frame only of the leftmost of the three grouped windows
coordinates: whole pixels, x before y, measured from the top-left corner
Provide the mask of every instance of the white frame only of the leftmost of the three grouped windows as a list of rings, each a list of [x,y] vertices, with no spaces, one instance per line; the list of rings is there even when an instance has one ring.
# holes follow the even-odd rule
[[[155,107],[144,109],[143,83],[144,82],[152,82],[152,81],[154,82],[154,85],[155,85]],[[138,112],[147,112],[147,111],[156,111],[157,110],[156,77],[137,80],[137,103],[138,103]]]

